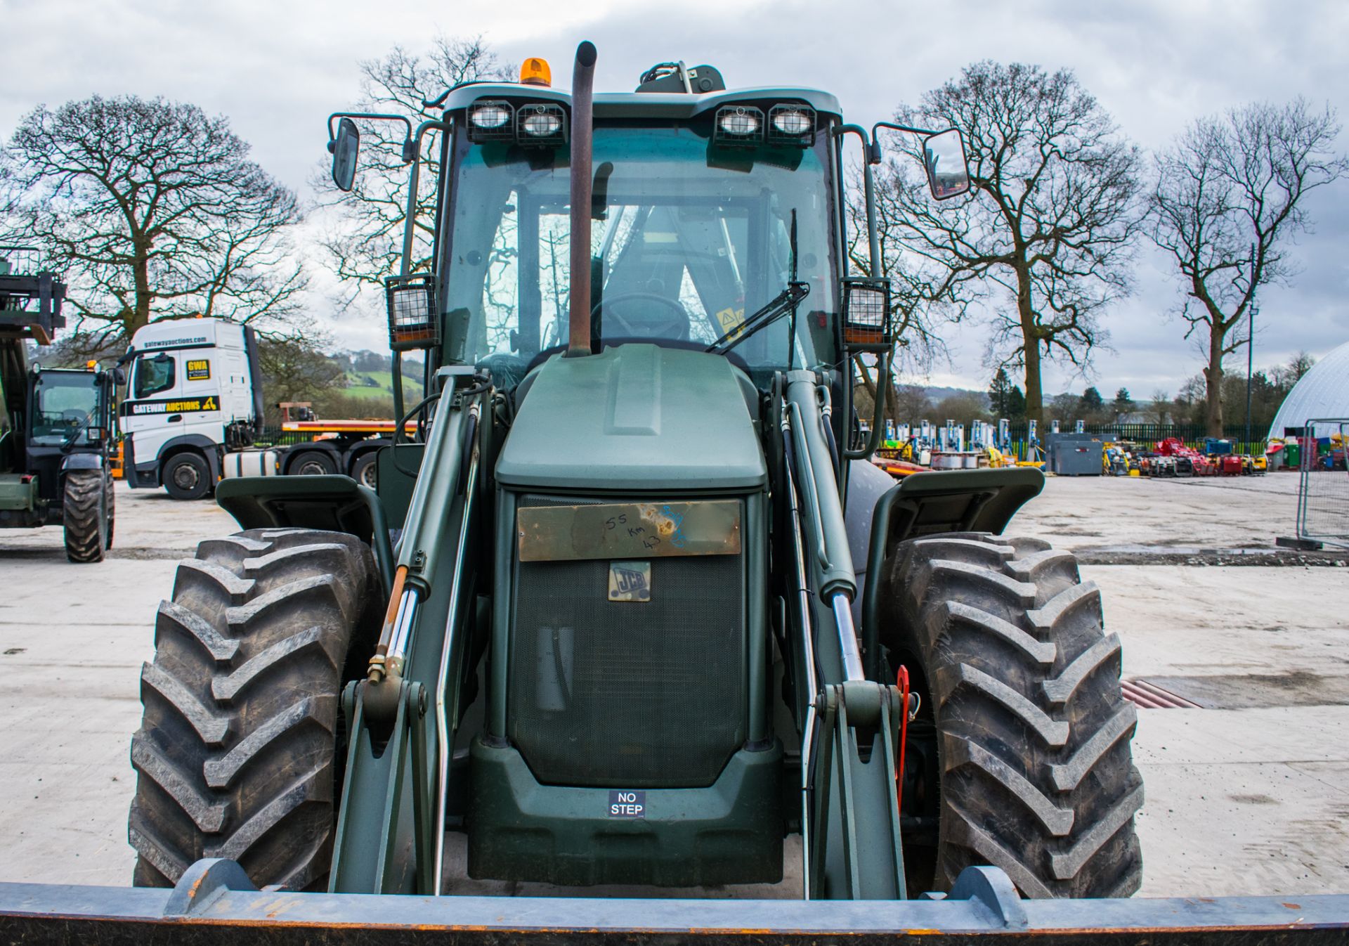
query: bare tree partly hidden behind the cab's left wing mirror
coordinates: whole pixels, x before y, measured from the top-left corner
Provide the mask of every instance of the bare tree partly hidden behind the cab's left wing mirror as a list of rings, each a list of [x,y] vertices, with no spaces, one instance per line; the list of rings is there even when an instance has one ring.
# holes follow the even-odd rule
[[[406,115],[415,128],[421,121],[440,120],[440,108],[426,103],[445,89],[460,82],[505,78],[507,66],[498,62],[480,36],[437,36],[426,57],[395,46],[382,59],[360,63],[360,97],[352,111]],[[352,297],[362,285],[379,286],[386,275],[398,270],[409,186],[407,166],[402,162],[403,126],[391,121],[362,121],[360,126],[360,169],[351,193],[332,186],[326,163],[313,179],[320,206],[337,209],[333,227],[321,242]],[[428,136],[414,215],[414,273],[430,267],[438,174],[440,138]]]

